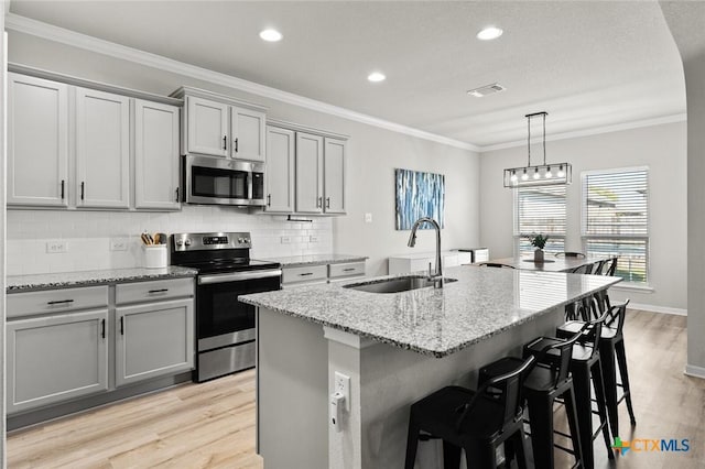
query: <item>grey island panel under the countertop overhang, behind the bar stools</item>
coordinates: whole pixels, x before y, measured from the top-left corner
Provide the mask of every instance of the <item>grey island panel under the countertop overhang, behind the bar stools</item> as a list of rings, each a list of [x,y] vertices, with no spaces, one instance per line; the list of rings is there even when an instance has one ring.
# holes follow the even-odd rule
[[[445,358],[378,343],[360,350],[361,466],[402,467],[410,405],[449,384],[477,389],[477,371],[506,356],[521,356],[523,343],[553,336],[564,321],[556,308]],[[330,349],[332,350],[332,349]],[[332,357],[333,360],[333,357]],[[416,468],[442,468],[441,444],[419,444]]]

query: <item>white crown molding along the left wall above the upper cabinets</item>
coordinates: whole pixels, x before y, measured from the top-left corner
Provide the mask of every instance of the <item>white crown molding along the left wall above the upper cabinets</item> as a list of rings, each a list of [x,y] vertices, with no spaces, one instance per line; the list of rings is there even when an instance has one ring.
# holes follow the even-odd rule
[[[275,99],[281,102],[299,106],[314,111],[336,116],[343,119],[365,123],[380,129],[391,130],[393,132],[403,133],[419,139],[429,140],[445,145],[455,146],[463,150],[478,152],[479,148],[471,143],[462,142],[459,140],[449,139],[447,137],[437,135],[420,129],[402,126],[373,116],[356,112],[327,102],[306,98],[293,92],[283,91],[281,89],[260,85],[254,81],[237,78],[230,75],[213,72],[206,68],[189,65],[161,55],[151,54],[133,47],[127,47],[109,41],[104,41],[75,31],[58,28],[41,21],[32,20],[10,13],[6,18],[6,29],[17,31],[24,34],[31,34],[45,40],[70,45],[73,47],[84,48],[90,52],[108,55],[115,58],[133,62],[140,65],[171,72],[178,75],[188,76],[191,78],[213,83],[215,85],[226,86],[243,92],[249,92],[264,98]]]

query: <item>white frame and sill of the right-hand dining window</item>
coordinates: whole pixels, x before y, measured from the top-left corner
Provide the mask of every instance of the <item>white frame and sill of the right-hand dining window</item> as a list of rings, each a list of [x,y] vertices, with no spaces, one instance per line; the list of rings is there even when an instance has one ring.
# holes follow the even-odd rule
[[[647,198],[647,234],[592,234],[587,232],[587,178],[590,175],[608,175],[620,173],[646,173],[646,190]],[[643,282],[630,282],[623,279],[618,286],[633,286],[633,287],[651,287],[651,170],[649,166],[625,166],[625,167],[610,167],[604,170],[587,170],[581,172],[581,240],[583,252],[589,255],[588,241],[589,240],[636,240],[644,241],[644,281]]]

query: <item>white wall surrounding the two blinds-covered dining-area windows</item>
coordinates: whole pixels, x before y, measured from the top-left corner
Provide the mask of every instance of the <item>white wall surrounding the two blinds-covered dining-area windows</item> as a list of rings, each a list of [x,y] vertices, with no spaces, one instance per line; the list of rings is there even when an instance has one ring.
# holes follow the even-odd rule
[[[685,122],[549,141],[546,161],[573,164],[573,184],[567,188],[566,200],[565,248],[570,251],[583,251],[581,172],[649,166],[649,283],[653,293],[614,288],[615,297],[666,309],[686,309]],[[513,249],[513,198],[512,190],[502,186],[502,170],[525,162],[525,145],[485,152],[480,157],[480,239],[495,258],[512,255]]]

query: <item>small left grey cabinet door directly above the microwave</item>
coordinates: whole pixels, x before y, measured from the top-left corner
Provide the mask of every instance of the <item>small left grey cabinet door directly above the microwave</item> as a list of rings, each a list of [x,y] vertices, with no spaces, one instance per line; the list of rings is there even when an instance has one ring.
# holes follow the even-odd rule
[[[228,156],[228,105],[186,97],[188,153]]]

